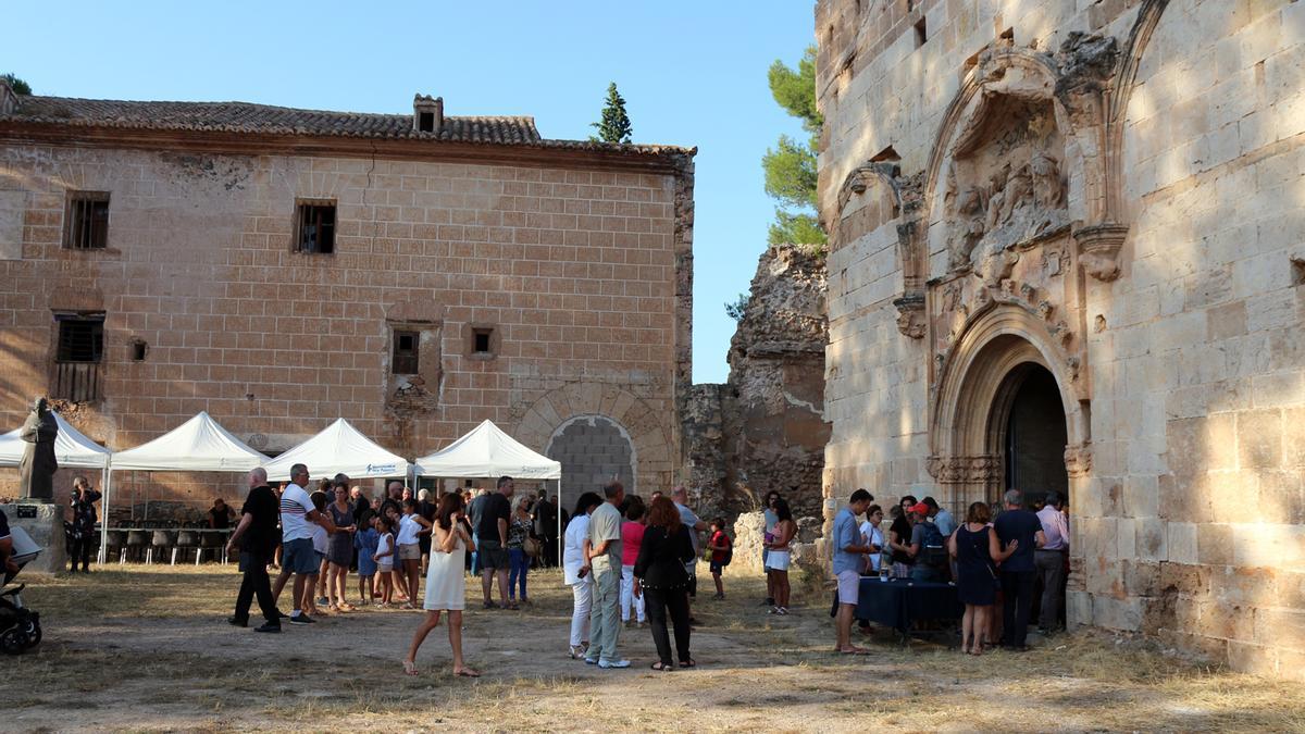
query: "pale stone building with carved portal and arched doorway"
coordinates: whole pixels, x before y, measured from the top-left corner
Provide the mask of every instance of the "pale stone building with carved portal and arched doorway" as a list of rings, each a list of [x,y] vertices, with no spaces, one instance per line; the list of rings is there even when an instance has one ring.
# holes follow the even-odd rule
[[[820,0],[826,509],[1070,499],[1069,619],[1305,671],[1305,4]]]

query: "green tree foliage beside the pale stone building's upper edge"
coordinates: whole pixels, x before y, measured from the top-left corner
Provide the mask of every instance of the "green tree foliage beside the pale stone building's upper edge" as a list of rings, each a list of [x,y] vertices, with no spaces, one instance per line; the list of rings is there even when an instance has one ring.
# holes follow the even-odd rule
[[[766,174],[766,193],[779,201],[770,225],[770,244],[793,243],[822,248],[827,236],[816,217],[816,146],[821,125],[816,108],[816,47],[803,54],[797,68],[776,60],[767,73],[770,93],[786,112],[797,118],[806,131],[805,142],[780,136],[766,150],[761,167]]]

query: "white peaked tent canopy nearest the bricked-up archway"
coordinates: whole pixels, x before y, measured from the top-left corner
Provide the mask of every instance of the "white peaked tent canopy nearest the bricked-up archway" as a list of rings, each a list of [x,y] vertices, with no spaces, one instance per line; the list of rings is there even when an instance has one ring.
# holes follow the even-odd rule
[[[540,456],[485,421],[448,448],[416,460],[419,474],[433,477],[500,477],[561,479],[562,465]]]

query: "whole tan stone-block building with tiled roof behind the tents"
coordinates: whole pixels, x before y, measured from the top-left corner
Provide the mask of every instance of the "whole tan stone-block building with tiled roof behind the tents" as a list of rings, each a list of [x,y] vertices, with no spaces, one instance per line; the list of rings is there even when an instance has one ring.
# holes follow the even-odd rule
[[[207,410],[269,453],[343,417],[411,457],[489,418],[590,483],[666,487],[693,154],[422,95],[376,115],[0,86],[0,424],[48,392],[114,449]],[[205,505],[218,481],[140,478]]]

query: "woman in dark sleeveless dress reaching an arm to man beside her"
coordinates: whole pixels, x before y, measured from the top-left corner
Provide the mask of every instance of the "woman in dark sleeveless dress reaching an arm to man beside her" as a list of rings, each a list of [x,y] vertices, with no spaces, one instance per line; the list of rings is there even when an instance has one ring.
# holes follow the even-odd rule
[[[976,502],[966,512],[966,521],[957,528],[947,541],[951,558],[957,559],[957,597],[966,605],[960,619],[960,652],[983,654],[987,640],[988,615],[997,601],[997,568],[994,562],[1002,562],[1015,552],[1013,541],[1001,550],[997,533],[988,526],[992,513],[988,505]]]

